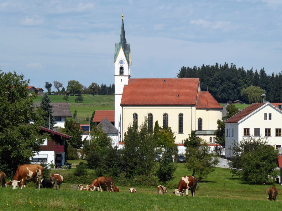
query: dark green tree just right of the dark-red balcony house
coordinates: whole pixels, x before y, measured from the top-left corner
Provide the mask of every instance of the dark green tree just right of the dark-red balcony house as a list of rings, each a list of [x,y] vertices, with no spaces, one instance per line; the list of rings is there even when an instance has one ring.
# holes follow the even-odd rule
[[[80,149],[83,142],[82,142],[82,134],[83,131],[79,128],[79,123],[73,122],[72,119],[65,120],[65,128],[61,129],[62,133],[72,136],[67,143],[68,145],[72,146],[73,148]]]

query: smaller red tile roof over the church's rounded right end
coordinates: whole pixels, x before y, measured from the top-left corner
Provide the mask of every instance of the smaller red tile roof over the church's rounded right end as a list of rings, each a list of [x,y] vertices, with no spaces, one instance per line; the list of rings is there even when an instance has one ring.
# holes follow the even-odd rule
[[[209,92],[198,92],[196,108],[219,108],[222,106],[216,101]]]

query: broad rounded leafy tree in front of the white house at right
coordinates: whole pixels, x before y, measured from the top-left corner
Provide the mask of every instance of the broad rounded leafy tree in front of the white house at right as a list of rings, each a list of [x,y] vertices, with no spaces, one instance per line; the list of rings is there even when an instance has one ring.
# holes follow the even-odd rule
[[[269,183],[277,177],[278,150],[268,145],[265,138],[248,137],[235,143],[233,159],[228,163],[231,172],[251,183]]]

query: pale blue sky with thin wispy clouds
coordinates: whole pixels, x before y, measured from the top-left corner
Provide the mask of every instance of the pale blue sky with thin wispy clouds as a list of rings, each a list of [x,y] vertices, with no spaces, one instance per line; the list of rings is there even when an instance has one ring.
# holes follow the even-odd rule
[[[225,62],[278,74],[281,11],[281,0],[0,0],[0,70],[44,90],[70,80],[109,86],[123,13],[131,78]]]

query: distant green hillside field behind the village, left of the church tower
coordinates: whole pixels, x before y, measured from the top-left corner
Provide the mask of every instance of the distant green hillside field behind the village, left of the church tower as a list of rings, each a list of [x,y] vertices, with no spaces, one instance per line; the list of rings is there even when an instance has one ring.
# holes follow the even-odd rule
[[[64,95],[49,95],[50,100],[52,103],[65,103],[66,101],[63,99]],[[69,106],[70,112],[73,113],[77,112],[77,118],[74,121],[79,122],[81,124],[89,124],[89,121],[86,121],[85,118],[89,118],[92,116],[92,113],[96,110],[113,110],[114,107],[114,95],[95,95],[92,96],[91,94],[83,94],[82,98],[83,101],[81,103],[75,102],[77,96],[69,96]],[[34,99],[35,103],[40,103],[42,96],[38,96]],[[84,118],[84,119],[79,119]]]

